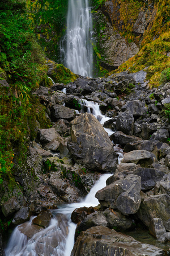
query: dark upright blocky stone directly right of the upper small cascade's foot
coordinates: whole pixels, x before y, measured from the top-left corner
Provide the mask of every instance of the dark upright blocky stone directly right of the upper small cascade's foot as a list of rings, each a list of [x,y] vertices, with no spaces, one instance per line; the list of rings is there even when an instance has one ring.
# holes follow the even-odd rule
[[[125,134],[133,135],[134,117],[128,112],[120,113],[116,119],[116,129]]]

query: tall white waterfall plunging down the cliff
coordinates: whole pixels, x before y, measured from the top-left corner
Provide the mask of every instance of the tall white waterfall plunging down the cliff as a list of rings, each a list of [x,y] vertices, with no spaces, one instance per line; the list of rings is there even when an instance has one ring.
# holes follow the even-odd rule
[[[65,66],[73,73],[92,77],[92,16],[88,0],[69,0],[66,52],[61,47]]]

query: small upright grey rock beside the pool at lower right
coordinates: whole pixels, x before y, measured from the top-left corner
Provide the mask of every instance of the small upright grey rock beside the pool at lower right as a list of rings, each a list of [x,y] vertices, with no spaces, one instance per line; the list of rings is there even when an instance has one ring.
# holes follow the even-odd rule
[[[159,238],[166,233],[166,229],[161,218],[152,218],[150,221],[149,232],[155,238]]]

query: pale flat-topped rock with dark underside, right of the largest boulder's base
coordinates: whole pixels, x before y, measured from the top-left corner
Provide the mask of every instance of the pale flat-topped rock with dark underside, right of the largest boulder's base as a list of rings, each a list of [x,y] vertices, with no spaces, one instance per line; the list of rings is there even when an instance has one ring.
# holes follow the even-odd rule
[[[156,162],[156,156],[147,150],[134,150],[126,153],[122,160],[123,163],[140,164],[142,167],[149,167]]]

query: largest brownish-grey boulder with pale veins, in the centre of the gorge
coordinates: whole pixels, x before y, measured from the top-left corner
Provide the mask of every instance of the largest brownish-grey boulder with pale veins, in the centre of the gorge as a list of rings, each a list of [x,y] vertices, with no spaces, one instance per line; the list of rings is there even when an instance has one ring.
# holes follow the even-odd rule
[[[113,172],[117,155],[107,132],[94,115],[80,114],[71,123],[71,142],[67,147],[74,160],[89,169]]]

